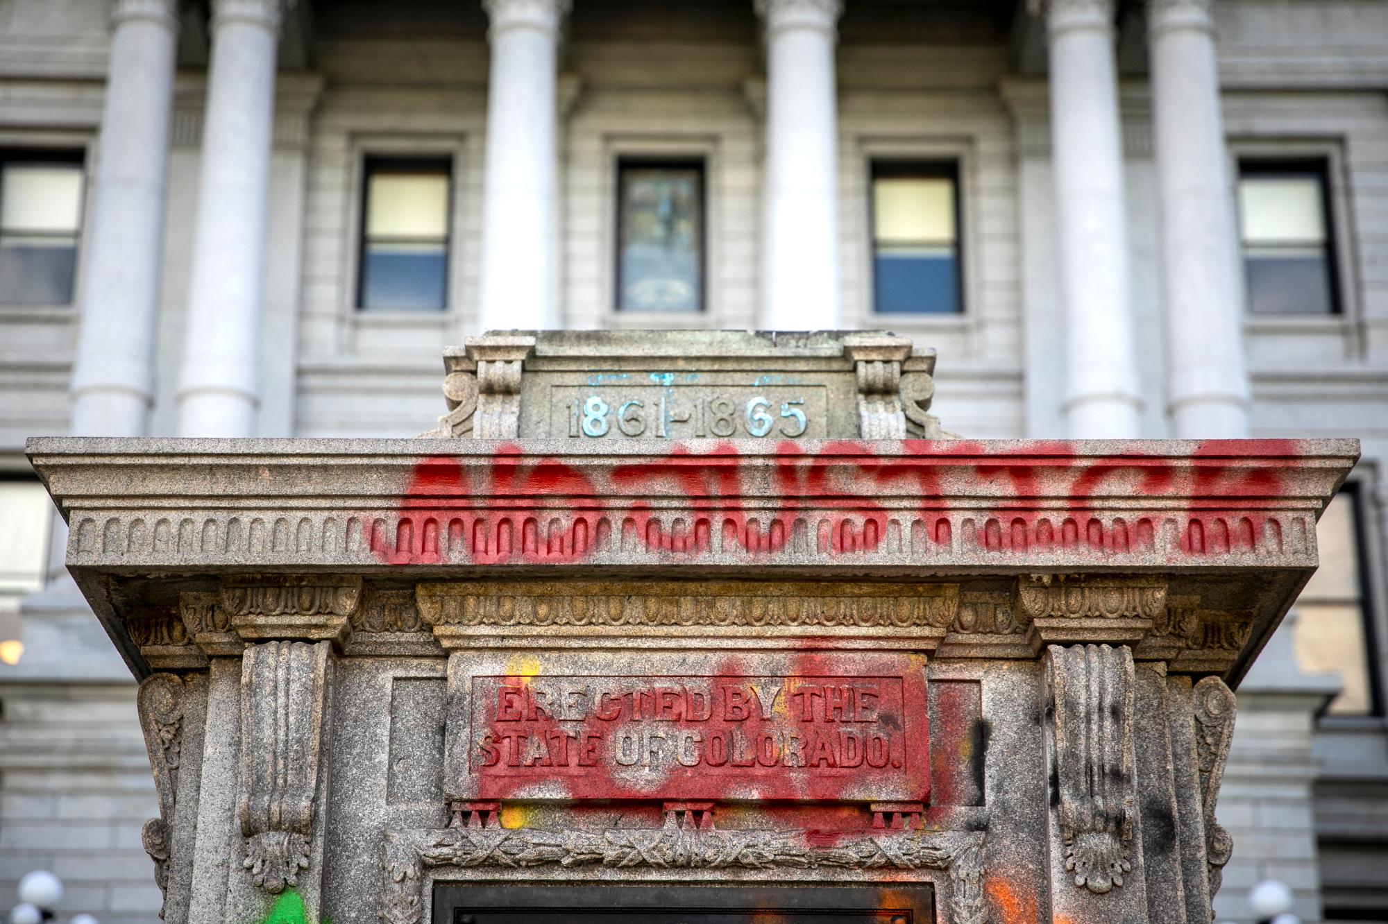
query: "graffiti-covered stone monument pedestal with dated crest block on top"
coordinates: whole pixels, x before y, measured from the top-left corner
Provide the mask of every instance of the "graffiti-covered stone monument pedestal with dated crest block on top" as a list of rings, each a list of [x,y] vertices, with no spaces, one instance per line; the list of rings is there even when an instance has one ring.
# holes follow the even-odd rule
[[[899,337],[690,337],[477,339],[419,440],[29,443],[165,921],[1210,920],[1357,444],[912,438]]]

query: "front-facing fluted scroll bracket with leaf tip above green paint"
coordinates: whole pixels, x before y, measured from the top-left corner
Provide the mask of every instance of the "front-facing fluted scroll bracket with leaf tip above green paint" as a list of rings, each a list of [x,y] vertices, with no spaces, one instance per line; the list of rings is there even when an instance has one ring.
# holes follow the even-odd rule
[[[250,645],[242,665],[242,864],[272,895],[297,885],[310,863],[329,648],[325,641]]]

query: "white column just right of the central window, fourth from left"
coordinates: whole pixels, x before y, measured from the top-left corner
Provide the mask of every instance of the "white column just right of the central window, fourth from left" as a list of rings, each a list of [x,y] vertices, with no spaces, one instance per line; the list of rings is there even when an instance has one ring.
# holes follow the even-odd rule
[[[834,330],[838,308],[838,0],[756,0],[766,21],[762,314]]]

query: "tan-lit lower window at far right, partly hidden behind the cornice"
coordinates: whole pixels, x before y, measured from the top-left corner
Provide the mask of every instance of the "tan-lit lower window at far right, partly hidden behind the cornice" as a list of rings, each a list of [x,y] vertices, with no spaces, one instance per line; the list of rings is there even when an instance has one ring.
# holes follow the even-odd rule
[[[1344,683],[1331,715],[1374,710],[1369,669],[1369,608],[1359,558],[1359,505],[1352,487],[1330,502],[1316,524],[1320,567],[1296,599],[1292,641],[1296,662],[1313,674],[1338,674]]]

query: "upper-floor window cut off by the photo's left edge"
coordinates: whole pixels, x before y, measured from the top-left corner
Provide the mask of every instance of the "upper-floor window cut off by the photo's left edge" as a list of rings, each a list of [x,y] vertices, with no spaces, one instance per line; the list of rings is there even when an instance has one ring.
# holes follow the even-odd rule
[[[0,304],[72,304],[81,230],[81,154],[0,153]]]

